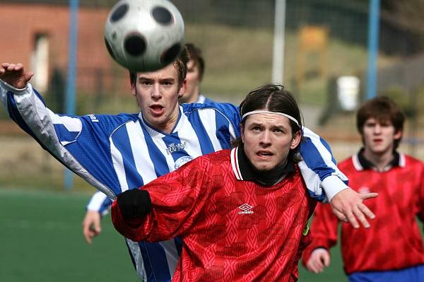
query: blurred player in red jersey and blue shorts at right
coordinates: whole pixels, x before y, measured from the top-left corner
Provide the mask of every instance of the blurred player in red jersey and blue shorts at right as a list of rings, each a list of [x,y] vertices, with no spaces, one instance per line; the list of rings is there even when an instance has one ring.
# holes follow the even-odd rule
[[[424,281],[424,249],[416,216],[424,220],[424,164],[396,148],[402,138],[404,115],[388,98],[375,98],[357,114],[363,148],[338,165],[358,192],[378,192],[367,202],[376,219],[369,229],[341,227],[341,252],[350,282]],[[336,245],[338,223],[319,204],[312,221],[314,240],[303,264],[314,273],[329,266],[329,249]]]

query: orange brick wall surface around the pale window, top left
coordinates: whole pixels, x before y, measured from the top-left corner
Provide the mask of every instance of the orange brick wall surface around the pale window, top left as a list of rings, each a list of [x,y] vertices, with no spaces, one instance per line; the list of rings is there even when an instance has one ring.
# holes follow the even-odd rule
[[[54,68],[66,72],[68,6],[0,3],[0,11],[0,62],[21,62],[30,69],[35,36],[41,33],[49,37],[49,73]],[[105,48],[103,28],[109,11],[109,8],[79,9],[77,81],[80,89],[93,88],[94,79],[87,79],[93,74],[86,72],[94,73],[95,69],[101,69],[105,74],[116,73],[116,69],[123,71],[110,59]]]

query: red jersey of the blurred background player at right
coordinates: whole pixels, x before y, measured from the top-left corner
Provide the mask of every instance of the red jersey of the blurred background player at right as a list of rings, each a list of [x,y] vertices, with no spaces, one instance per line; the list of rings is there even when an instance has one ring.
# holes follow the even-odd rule
[[[424,219],[424,164],[396,153],[384,172],[367,165],[361,153],[338,165],[357,192],[377,192],[366,201],[375,213],[371,227],[341,226],[341,253],[347,274],[356,271],[387,271],[424,264],[424,249],[416,216]],[[338,219],[329,206],[319,204],[312,220],[312,244],[303,254],[306,264],[317,247],[336,245]]]

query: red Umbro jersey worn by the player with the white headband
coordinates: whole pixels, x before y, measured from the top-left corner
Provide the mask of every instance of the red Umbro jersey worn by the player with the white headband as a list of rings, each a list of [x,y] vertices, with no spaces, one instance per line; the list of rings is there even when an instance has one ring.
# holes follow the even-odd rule
[[[153,205],[146,218],[124,220],[115,201],[112,221],[134,241],[181,237],[172,281],[297,281],[316,204],[299,169],[271,186],[242,175],[237,148],[201,156],[143,187]]]

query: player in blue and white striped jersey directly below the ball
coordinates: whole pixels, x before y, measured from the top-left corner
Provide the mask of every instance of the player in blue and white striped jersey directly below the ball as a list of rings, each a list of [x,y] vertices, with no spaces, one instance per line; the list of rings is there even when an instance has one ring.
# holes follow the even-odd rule
[[[187,160],[230,148],[230,141],[240,134],[240,114],[233,105],[178,105],[185,88],[186,64],[187,59],[179,58],[160,71],[132,76],[131,92],[141,108],[138,114],[55,114],[28,83],[33,74],[21,64],[1,64],[0,98],[10,117],[45,150],[115,199]],[[372,213],[361,196],[339,180],[344,175],[336,169],[326,143],[307,129],[305,136],[302,173],[310,195],[331,200],[336,214],[345,211],[345,215],[338,214],[341,218],[358,225],[358,216],[367,225],[364,213]],[[182,250],[181,240],[126,242],[143,281],[170,281]]]

